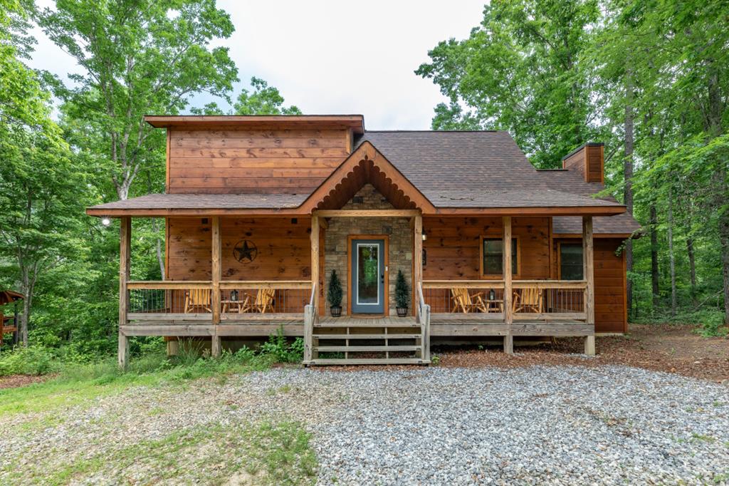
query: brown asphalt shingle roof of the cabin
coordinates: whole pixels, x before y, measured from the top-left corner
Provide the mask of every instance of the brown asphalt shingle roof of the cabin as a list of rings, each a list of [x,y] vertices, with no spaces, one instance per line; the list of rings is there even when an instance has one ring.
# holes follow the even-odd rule
[[[366,131],[379,150],[435,207],[602,207],[601,184],[574,171],[537,171],[505,131]],[[150,194],[94,209],[289,209],[308,194]],[[629,234],[639,228],[626,215],[596,217],[596,233]],[[555,233],[580,233],[580,217],[555,217]]]

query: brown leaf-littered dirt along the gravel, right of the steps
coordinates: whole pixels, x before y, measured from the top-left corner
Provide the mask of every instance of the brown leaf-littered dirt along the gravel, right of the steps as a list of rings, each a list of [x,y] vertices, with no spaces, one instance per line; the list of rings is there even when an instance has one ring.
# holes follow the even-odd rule
[[[556,339],[534,346],[519,346],[508,356],[496,347],[486,350],[443,350],[435,352],[440,366],[531,366],[536,364],[602,366],[620,364],[667,371],[687,377],[729,381],[729,339],[704,338],[694,325],[631,324],[627,336],[598,336],[597,356],[584,352],[584,339]]]

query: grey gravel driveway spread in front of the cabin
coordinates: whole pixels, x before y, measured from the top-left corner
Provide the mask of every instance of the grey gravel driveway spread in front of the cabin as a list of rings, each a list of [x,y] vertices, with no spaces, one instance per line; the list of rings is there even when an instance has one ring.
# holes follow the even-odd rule
[[[112,430],[122,447],[200,423],[289,417],[313,433],[322,485],[729,483],[729,387],[623,366],[274,369],[139,387],[66,413],[0,447],[68,460]]]

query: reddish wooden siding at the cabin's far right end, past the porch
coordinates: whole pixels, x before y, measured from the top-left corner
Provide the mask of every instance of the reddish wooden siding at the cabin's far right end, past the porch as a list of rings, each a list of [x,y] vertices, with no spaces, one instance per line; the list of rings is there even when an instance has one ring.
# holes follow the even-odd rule
[[[558,244],[579,243],[580,239],[555,239],[554,275],[559,275]],[[595,332],[624,333],[628,331],[625,313],[625,252],[615,255],[622,239],[595,239]]]

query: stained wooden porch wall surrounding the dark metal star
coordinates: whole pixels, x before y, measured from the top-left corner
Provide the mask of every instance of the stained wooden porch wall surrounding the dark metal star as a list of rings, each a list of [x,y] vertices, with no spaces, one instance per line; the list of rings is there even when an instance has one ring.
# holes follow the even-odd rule
[[[212,218],[170,218],[168,279],[211,278]],[[223,280],[305,280],[311,278],[311,219],[296,224],[286,217],[221,218]],[[256,259],[240,263],[233,247],[247,239],[258,249]]]

